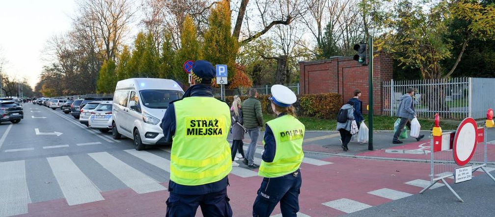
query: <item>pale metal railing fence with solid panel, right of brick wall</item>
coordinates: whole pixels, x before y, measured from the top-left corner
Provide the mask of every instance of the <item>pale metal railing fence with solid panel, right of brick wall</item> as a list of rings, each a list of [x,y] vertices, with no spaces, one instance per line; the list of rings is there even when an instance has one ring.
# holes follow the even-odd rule
[[[408,87],[416,89],[414,106],[418,117],[483,118],[495,107],[495,78],[448,78],[383,82],[384,114],[395,116],[400,97]]]

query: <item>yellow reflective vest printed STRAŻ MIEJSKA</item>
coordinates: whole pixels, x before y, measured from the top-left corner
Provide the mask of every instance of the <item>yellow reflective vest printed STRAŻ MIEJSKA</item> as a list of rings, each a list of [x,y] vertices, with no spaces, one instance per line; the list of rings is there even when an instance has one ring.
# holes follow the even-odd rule
[[[225,178],[232,170],[229,106],[213,97],[187,97],[174,107],[170,180],[203,185]]]

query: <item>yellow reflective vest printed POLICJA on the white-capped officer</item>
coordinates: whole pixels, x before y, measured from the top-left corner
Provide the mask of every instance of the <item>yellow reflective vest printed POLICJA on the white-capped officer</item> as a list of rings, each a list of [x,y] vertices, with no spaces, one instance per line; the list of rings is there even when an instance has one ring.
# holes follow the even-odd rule
[[[304,124],[288,114],[270,120],[266,124],[275,137],[275,158],[271,163],[262,161],[258,175],[274,178],[295,172],[304,158],[302,152]]]

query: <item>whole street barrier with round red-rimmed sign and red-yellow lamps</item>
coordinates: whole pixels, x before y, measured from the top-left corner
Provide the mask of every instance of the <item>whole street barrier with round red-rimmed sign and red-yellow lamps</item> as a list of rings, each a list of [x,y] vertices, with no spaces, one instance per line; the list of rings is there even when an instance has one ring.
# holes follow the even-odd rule
[[[440,118],[436,114],[431,136],[431,183],[419,193],[424,193],[435,183],[442,181],[459,201],[464,202],[445,179],[453,177],[454,183],[460,183],[471,180],[472,173],[482,169],[495,181],[486,169],[488,163],[486,132],[487,128],[494,127],[493,110],[488,110],[487,122],[483,127],[478,127],[471,117],[464,119],[456,131],[442,132],[439,124]]]

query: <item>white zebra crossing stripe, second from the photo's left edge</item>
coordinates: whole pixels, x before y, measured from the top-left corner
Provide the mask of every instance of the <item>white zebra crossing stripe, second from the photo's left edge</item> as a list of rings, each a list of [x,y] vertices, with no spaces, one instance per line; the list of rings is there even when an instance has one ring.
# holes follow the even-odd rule
[[[68,156],[47,160],[69,206],[104,200],[99,189]]]

